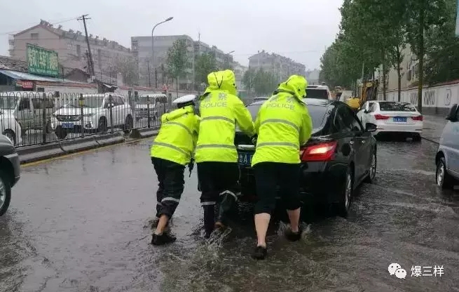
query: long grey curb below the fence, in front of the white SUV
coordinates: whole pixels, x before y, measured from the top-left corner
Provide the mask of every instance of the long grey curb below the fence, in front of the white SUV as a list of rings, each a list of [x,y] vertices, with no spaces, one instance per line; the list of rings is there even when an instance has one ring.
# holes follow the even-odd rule
[[[65,154],[82,152],[85,150],[96,149],[107,145],[125,142],[123,133],[109,133],[98,136],[87,136],[85,138],[75,138],[72,140],[62,140],[46,145],[35,145],[20,147],[17,149],[21,164],[29,164],[36,161],[60,157]]]

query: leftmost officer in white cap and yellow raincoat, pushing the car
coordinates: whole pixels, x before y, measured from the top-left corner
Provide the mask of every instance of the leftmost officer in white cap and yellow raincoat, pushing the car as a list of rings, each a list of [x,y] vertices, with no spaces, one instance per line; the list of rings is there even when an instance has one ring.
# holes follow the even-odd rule
[[[151,146],[151,162],[158,175],[156,217],[158,223],[151,244],[163,245],[176,240],[165,227],[179,205],[184,191],[184,171],[193,163],[192,154],[199,133],[199,117],[195,114],[196,95],[174,100],[178,109],[163,114],[161,128]],[[153,223],[154,224],[154,223]]]

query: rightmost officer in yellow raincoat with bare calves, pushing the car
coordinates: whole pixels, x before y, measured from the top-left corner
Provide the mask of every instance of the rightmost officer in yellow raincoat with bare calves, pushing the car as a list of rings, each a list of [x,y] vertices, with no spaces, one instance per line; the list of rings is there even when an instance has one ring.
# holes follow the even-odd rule
[[[252,167],[256,180],[255,228],[258,244],[253,258],[263,259],[266,251],[266,231],[270,213],[275,208],[280,188],[289,215],[291,229],[286,236],[290,241],[301,237],[299,180],[300,146],[306,144],[313,130],[308,107],[303,102],[308,81],[292,75],[281,83],[263,105],[256,116],[255,130],[258,133]]]

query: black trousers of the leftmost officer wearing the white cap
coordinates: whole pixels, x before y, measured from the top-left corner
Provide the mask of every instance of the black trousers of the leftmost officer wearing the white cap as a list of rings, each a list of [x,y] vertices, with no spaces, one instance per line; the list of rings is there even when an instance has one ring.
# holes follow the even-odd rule
[[[179,206],[181,194],[184,192],[185,166],[156,157],[151,157],[151,163],[153,163],[156,175],[158,175],[156,217],[167,215],[171,218]]]

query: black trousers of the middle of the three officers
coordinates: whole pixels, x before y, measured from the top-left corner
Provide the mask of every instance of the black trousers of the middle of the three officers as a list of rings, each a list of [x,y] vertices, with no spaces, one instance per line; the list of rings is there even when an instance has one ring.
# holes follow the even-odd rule
[[[239,166],[233,162],[200,162],[198,179],[201,186],[201,206],[214,206],[224,194],[231,194],[237,201],[239,190]]]

